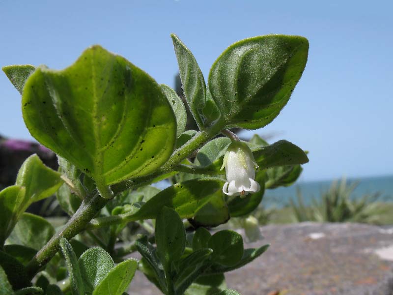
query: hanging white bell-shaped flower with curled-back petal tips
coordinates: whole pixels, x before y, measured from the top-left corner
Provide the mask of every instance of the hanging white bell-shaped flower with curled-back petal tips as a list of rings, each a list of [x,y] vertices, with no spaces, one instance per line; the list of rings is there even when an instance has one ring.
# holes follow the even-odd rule
[[[228,196],[245,196],[256,193],[260,189],[255,178],[255,163],[253,152],[247,144],[233,141],[225,152],[224,163],[226,181],[223,192]]]

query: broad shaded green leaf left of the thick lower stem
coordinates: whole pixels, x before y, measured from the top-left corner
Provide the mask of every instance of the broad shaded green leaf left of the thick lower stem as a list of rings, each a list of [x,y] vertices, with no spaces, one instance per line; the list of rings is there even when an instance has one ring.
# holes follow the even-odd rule
[[[55,229],[46,219],[31,213],[23,213],[7,242],[38,251],[53,235],[55,235]]]

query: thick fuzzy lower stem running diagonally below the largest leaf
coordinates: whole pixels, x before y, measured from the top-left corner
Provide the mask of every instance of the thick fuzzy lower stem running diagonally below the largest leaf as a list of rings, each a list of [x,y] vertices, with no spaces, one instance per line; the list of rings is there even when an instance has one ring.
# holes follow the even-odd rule
[[[70,239],[82,232],[86,224],[101,211],[107,202],[107,199],[102,198],[98,194],[84,199],[78,211],[67,222],[63,230],[53,236],[28,263],[26,270],[29,277],[34,277],[39,269],[52,259],[59,249],[58,243],[61,237]]]

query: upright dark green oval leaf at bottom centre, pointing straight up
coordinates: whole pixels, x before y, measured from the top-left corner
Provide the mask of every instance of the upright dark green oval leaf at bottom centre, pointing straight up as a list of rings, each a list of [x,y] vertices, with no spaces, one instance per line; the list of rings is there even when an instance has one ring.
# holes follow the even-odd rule
[[[183,222],[175,210],[162,208],[157,215],[155,235],[157,254],[167,271],[172,262],[180,259],[186,246]]]

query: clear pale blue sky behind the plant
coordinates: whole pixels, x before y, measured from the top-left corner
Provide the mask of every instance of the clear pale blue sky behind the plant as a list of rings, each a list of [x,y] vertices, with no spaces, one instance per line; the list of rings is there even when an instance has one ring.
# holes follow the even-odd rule
[[[302,180],[393,174],[392,1],[0,0],[0,65],[61,69],[101,44],[173,85],[169,34],[192,50],[205,77],[231,43],[269,33],[309,39],[309,61],[270,125],[309,150]],[[0,73],[0,134],[31,139],[20,95]]]

